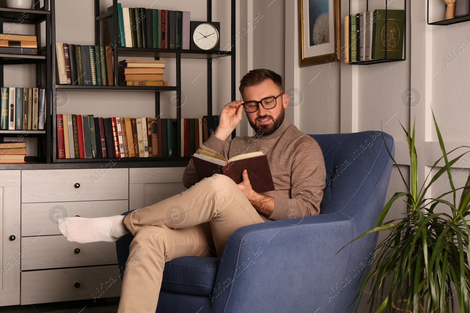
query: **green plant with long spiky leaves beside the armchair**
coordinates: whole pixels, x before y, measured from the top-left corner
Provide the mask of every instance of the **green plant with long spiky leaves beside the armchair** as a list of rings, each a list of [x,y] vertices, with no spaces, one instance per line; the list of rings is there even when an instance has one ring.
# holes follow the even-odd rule
[[[413,125],[412,133],[409,127],[405,130],[402,126],[407,135],[411,159],[410,183],[407,184],[397,167],[406,191],[396,192],[385,204],[376,227],[360,236],[373,232],[377,236],[379,231],[390,231],[386,239],[378,244],[380,252],[369,268],[360,290],[359,296],[366,284],[371,283],[369,312],[373,312],[374,306],[380,304],[376,313],[383,310],[384,312],[450,313],[456,309],[454,298],[457,299],[461,313],[469,312],[470,239],[467,221],[470,214],[470,175],[464,186],[456,188],[450,169],[468,151],[452,160],[448,159],[449,154],[455,150],[469,147],[460,146],[446,152],[434,113],[432,116],[443,154],[432,168],[436,168],[441,160],[445,165],[432,176],[430,171],[423,185],[418,186],[415,126]],[[387,151],[394,164],[398,165],[388,148]],[[444,174],[449,179],[451,190],[428,198],[427,191]],[[450,195],[452,200],[447,201],[446,195]],[[406,216],[399,220],[384,222],[392,204],[403,197],[407,203]],[[446,206],[447,212],[442,212],[440,208],[439,212],[435,212],[439,204]],[[388,293],[384,292],[383,288],[386,279],[387,282],[391,281]]]

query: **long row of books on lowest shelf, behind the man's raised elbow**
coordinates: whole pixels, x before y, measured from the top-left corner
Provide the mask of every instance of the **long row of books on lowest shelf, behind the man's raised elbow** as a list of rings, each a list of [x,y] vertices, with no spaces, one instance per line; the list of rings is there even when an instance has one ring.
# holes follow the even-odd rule
[[[214,120],[219,119],[215,116],[181,119],[181,146],[178,149],[176,119],[58,114],[57,158],[190,156],[209,138],[214,130]]]

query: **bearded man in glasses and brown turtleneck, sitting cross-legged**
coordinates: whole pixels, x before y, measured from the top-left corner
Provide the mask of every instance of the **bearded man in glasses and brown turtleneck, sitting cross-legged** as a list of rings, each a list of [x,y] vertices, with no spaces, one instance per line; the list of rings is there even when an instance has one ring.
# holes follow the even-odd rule
[[[220,257],[228,237],[239,227],[319,214],[326,176],[323,154],[312,137],[287,121],[284,110],[289,97],[283,92],[282,77],[254,69],[243,76],[239,90],[243,101],[222,109],[219,126],[204,145],[220,153],[223,145],[229,158],[262,151],[274,191],[253,191],[246,170],[239,184],[220,174],[199,182],[191,160],[183,174],[189,189],[176,196],[125,217],[59,220],[59,230],[69,241],[116,241],[129,232],[134,235],[129,257],[139,258],[125,270],[118,313],[155,312],[166,261],[208,257],[212,252]],[[227,142],[243,110],[257,135]]]

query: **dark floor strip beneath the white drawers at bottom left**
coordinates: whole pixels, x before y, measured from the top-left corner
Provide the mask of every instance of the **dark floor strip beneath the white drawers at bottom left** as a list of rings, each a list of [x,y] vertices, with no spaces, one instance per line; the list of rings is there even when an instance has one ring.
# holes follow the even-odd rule
[[[1,313],[116,313],[118,312],[119,297],[34,305],[1,306]]]

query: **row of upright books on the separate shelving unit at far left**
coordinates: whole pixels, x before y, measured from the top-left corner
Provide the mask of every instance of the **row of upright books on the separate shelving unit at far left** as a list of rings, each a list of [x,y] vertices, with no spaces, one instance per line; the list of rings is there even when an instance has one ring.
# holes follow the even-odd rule
[[[0,130],[43,130],[45,111],[44,88],[1,88]]]

